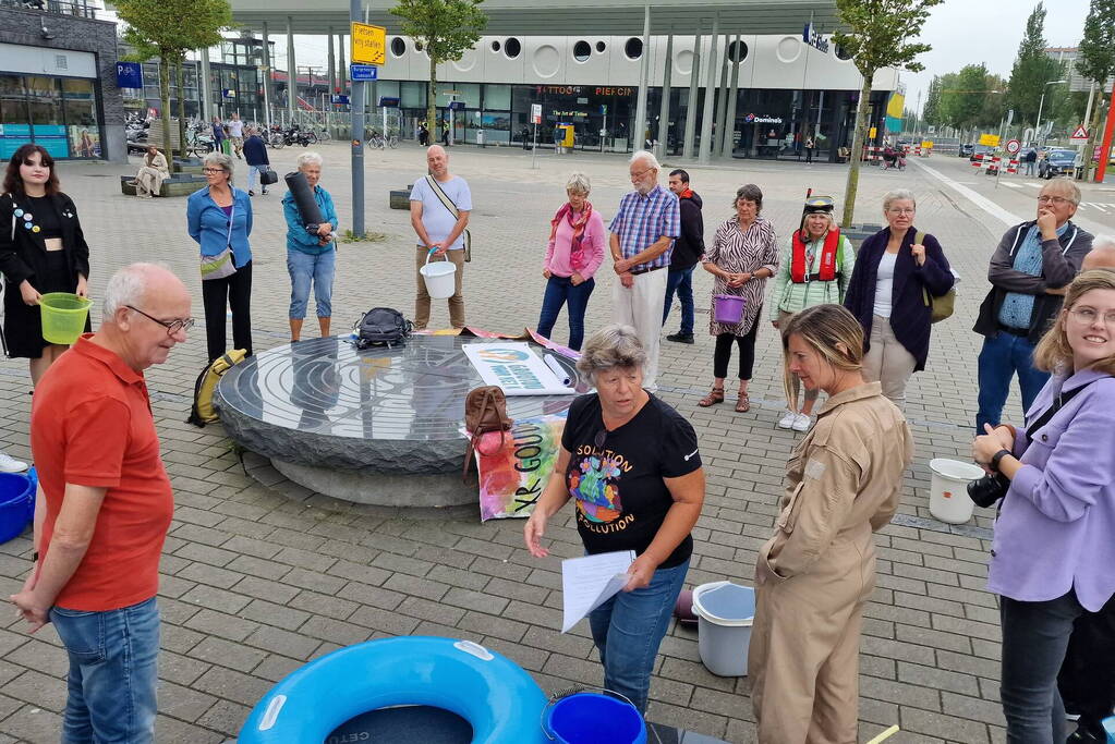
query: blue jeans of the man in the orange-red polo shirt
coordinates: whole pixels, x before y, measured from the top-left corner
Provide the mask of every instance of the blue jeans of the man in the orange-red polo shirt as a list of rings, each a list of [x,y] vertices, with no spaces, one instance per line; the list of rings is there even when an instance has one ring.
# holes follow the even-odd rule
[[[158,605],[152,597],[122,609],[50,609],[69,656],[62,744],[147,744],[155,737]]]

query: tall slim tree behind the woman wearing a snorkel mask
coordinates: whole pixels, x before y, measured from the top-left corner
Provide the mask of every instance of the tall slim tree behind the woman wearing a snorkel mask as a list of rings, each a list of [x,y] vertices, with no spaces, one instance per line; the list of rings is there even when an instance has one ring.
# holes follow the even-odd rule
[[[918,55],[931,49],[928,43],[911,43],[921,33],[929,9],[943,0],[836,0],[836,12],[849,32],[837,31],[833,39],[846,52],[863,75],[860,105],[855,110],[855,133],[852,135],[852,167],[844,189],[842,224],[852,224],[855,194],[860,185],[860,154],[866,135],[865,121],[871,106],[871,81],[876,70],[902,67],[911,72],[924,69]]]

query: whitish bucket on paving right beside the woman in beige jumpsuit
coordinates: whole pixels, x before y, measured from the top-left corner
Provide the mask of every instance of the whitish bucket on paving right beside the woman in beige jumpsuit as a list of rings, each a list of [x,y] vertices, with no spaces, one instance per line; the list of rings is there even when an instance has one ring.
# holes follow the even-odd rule
[[[747,647],[755,619],[755,589],[712,581],[694,589],[700,660],[720,677],[747,676]]]

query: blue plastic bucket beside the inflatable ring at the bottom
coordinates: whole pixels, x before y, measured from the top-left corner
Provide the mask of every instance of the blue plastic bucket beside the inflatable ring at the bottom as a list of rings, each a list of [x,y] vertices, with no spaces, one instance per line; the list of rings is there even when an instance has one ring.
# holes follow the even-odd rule
[[[559,744],[646,744],[638,708],[599,693],[576,693],[546,709],[544,731]]]

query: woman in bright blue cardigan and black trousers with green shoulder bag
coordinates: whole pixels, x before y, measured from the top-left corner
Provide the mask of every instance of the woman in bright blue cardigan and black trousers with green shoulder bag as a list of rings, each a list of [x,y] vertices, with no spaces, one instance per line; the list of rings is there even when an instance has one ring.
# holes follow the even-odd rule
[[[210,153],[202,173],[209,185],[190,195],[186,223],[190,237],[197,241],[201,255],[219,256],[229,248],[235,272],[222,278],[202,281],[205,306],[205,342],[209,359],[220,359],[225,347],[225,309],[232,307],[232,343],[252,355],[252,202],[246,192],[232,185],[232,158]]]

